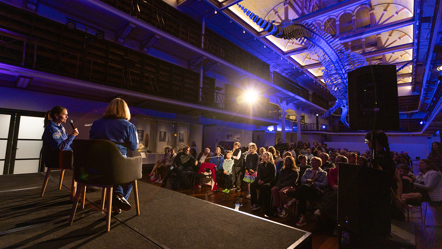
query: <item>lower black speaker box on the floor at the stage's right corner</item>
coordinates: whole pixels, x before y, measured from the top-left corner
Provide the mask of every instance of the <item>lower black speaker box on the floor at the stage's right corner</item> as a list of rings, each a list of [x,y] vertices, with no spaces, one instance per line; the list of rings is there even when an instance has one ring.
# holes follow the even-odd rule
[[[390,235],[390,177],[388,171],[339,163],[338,223],[353,242]]]

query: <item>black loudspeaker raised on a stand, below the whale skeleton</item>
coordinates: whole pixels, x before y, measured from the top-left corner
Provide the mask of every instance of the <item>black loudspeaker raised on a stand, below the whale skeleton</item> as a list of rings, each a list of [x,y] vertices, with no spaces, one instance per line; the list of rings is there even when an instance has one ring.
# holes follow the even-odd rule
[[[347,74],[349,128],[399,130],[395,65],[368,65]]]

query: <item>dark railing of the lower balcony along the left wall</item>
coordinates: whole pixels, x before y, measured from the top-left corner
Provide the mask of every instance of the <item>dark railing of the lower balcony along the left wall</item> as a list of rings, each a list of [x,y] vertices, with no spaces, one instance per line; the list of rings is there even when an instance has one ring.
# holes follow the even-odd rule
[[[44,23],[45,20],[41,21]],[[62,26],[64,26],[54,21],[50,21],[47,25],[53,30],[63,30]],[[159,60],[138,51],[130,52],[132,58],[125,57],[122,54],[129,49],[105,40],[96,41],[94,46],[90,45],[88,50],[84,51],[81,46],[78,46],[80,43],[78,41],[84,38],[84,32],[78,30],[58,34],[58,41],[62,42],[52,42],[51,33],[42,32],[44,31],[39,31],[40,35],[43,34],[40,37],[37,35],[30,37],[15,31],[0,29],[0,62],[153,96],[162,96],[171,100],[235,111],[244,115],[252,114],[243,105],[236,103],[236,96],[215,92],[214,89],[201,88],[193,77],[188,77],[189,80],[186,80],[186,74],[194,74],[190,69],[183,69],[168,62],[157,63],[164,64],[163,67],[153,65]],[[107,50],[103,50],[103,47]],[[133,60],[135,62],[131,64],[127,58],[132,60],[137,58],[140,61]],[[144,61],[141,61],[143,58]],[[169,67],[169,71],[164,67]],[[227,102],[229,102],[228,105],[226,105]],[[276,115],[279,111],[277,109],[263,106],[254,107],[252,111],[256,117],[279,120]]]

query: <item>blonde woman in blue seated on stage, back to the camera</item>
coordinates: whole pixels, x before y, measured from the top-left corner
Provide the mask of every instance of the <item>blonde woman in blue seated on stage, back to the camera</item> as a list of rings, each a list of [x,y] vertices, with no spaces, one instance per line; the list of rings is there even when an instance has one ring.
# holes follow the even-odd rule
[[[138,133],[135,126],[129,122],[130,111],[126,101],[114,99],[110,101],[103,118],[95,120],[89,131],[89,139],[103,139],[114,142],[124,157],[127,150],[138,149]],[[112,204],[114,207],[127,211],[130,204],[127,202],[132,183],[114,185],[112,194]],[[119,212],[119,211],[117,211]]]

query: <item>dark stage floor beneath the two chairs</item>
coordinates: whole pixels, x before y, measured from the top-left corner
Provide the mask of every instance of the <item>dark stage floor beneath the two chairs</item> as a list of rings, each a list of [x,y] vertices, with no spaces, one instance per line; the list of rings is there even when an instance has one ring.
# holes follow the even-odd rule
[[[98,208],[101,192],[88,192],[86,207],[79,205],[67,226],[69,190],[57,190],[58,172],[51,175],[43,197],[42,173],[0,176],[0,248],[274,249],[309,248],[312,243],[309,232],[142,181],[141,215],[134,207],[112,214],[106,233],[105,215]],[[70,186],[71,176],[65,173],[64,185]],[[133,195],[129,202],[133,204]]]

